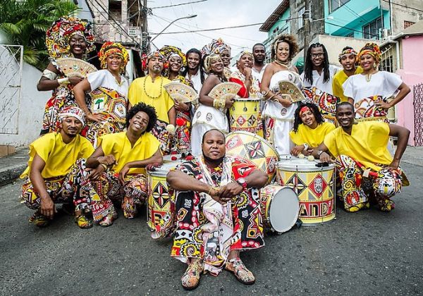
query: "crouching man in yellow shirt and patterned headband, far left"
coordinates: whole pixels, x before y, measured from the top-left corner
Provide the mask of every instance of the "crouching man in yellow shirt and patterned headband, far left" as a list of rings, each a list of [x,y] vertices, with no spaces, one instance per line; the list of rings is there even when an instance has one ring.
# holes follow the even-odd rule
[[[79,135],[85,124],[85,113],[77,107],[66,107],[59,114],[61,128],[30,144],[30,160],[20,175],[26,178],[21,199],[35,214],[30,222],[45,227],[56,214],[55,204],[73,203],[75,222],[80,228],[92,227],[85,214],[90,211],[90,197],[85,195],[75,178],[78,159],[94,152],[90,141]]]

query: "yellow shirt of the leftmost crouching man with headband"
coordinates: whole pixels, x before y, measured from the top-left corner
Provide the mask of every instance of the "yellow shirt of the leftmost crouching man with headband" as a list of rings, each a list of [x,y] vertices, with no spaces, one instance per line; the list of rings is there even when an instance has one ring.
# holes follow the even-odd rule
[[[32,161],[35,154],[46,163],[42,170],[42,178],[56,178],[66,175],[75,162],[84,158],[87,159],[94,152],[90,141],[77,135],[72,142],[65,144],[60,132],[50,132],[30,144],[30,160],[20,178],[30,174]]]

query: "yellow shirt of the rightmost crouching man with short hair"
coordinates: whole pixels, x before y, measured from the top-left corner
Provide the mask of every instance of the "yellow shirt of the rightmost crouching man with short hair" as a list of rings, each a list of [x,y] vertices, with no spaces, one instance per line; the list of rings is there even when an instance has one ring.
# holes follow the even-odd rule
[[[324,144],[335,157],[344,154],[359,161],[366,168],[380,171],[376,164],[391,164],[393,158],[388,152],[388,123],[366,121],[353,125],[351,135],[342,128],[336,128],[324,138]]]

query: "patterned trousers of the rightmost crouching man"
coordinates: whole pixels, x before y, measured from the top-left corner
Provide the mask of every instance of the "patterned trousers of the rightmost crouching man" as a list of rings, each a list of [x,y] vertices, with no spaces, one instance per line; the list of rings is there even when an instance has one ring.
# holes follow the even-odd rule
[[[382,168],[376,175],[363,176],[362,167],[350,156],[336,158],[338,194],[346,211],[358,211],[369,207],[369,201],[376,202],[381,211],[391,211],[395,204],[391,197],[402,187],[401,169]]]

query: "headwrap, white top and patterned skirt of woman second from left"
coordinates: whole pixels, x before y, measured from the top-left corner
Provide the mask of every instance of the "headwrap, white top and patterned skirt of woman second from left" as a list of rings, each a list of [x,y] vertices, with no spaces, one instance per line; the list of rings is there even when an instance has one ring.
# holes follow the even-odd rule
[[[99,60],[104,70],[87,75],[90,83],[90,111],[102,114],[106,119],[96,122],[90,121],[83,135],[97,148],[99,137],[102,135],[122,132],[125,128],[126,109],[128,107],[129,83],[121,75],[119,83],[113,74],[107,70],[106,58],[111,54],[122,57],[121,73],[125,72],[128,63],[128,51],[119,43],[106,42],[99,51]]]

